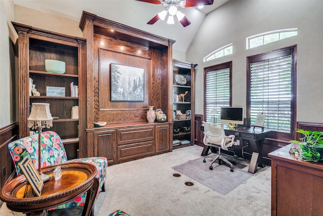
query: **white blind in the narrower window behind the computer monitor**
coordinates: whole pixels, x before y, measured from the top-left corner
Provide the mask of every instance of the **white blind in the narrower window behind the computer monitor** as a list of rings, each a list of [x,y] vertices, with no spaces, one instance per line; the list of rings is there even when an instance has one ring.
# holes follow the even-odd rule
[[[230,68],[214,70],[205,74],[205,118],[220,121],[220,107],[230,106]]]

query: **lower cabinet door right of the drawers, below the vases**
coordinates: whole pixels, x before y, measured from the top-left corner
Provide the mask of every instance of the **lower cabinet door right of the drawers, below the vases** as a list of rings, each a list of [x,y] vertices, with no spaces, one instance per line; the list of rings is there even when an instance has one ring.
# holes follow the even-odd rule
[[[165,153],[170,151],[170,129],[169,125],[156,126],[156,149],[155,153]]]

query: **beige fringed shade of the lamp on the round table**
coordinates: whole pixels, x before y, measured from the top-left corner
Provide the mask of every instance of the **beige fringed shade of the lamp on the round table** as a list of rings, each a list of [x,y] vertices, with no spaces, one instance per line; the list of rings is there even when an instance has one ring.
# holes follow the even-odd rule
[[[42,129],[52,127],[52,117],[47,103],[32,103],[31,113],[28,117],[28,127]]]

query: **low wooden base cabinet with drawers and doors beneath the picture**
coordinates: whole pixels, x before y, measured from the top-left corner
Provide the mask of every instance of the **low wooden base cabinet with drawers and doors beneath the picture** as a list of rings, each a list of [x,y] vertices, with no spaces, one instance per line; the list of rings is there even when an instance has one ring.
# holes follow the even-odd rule
[[[87,134],[93,137],[93,155],[104,155],[109,164],[170,151],[169,122],[109,124]]]

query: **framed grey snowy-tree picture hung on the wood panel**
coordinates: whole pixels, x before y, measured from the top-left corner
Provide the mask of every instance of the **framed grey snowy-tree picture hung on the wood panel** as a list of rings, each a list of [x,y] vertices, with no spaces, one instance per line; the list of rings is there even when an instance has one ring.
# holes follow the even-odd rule
[[[144,101],[144,68],[111,63],[111,101]]]

